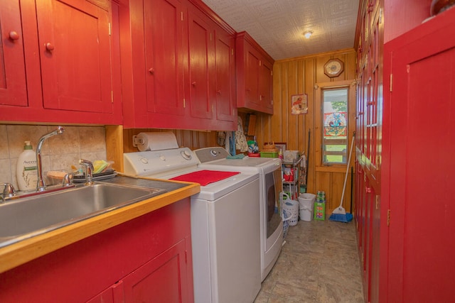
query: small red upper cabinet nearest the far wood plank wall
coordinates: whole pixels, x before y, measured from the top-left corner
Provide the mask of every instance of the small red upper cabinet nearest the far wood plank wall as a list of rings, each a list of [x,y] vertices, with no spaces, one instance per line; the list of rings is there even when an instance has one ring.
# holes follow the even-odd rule
[[[237,106],[273,114],[272,57],[246,32],[237,33]]]

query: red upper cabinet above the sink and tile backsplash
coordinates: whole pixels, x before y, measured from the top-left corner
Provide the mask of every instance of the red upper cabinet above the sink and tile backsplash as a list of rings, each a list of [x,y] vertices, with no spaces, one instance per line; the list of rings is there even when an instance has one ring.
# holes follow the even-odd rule
[[[115,2],[14,0],[0,6],[2,86],[8,87],[1,91],[1,121],[122,123]]]

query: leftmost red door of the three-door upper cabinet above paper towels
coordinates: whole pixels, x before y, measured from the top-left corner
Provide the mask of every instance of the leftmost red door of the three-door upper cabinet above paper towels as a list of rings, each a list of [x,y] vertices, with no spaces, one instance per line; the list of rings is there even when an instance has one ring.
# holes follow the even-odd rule
[[[183,21],[180,1],[144,1],[147,111],[183,116]]]

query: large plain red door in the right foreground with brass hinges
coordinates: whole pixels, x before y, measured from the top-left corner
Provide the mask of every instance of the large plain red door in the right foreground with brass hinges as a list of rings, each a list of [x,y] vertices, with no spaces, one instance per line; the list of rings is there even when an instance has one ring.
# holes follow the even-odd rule
[[[385,44],[390,302],[453,301],[455,10]],[[387,65],[385,65],[387,66]]]

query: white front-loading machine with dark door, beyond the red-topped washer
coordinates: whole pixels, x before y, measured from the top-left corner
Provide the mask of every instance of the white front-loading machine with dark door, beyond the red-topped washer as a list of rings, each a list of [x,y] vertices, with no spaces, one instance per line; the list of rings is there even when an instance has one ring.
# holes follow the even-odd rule
[[[225,148],[201,148],[194,151],[200,160],[198,167],[259,173],[261,281],[267,277],[277,261],[283,243],[281,211],[275,209],[282,186],[282,162],[278,158],[228,158]]]

